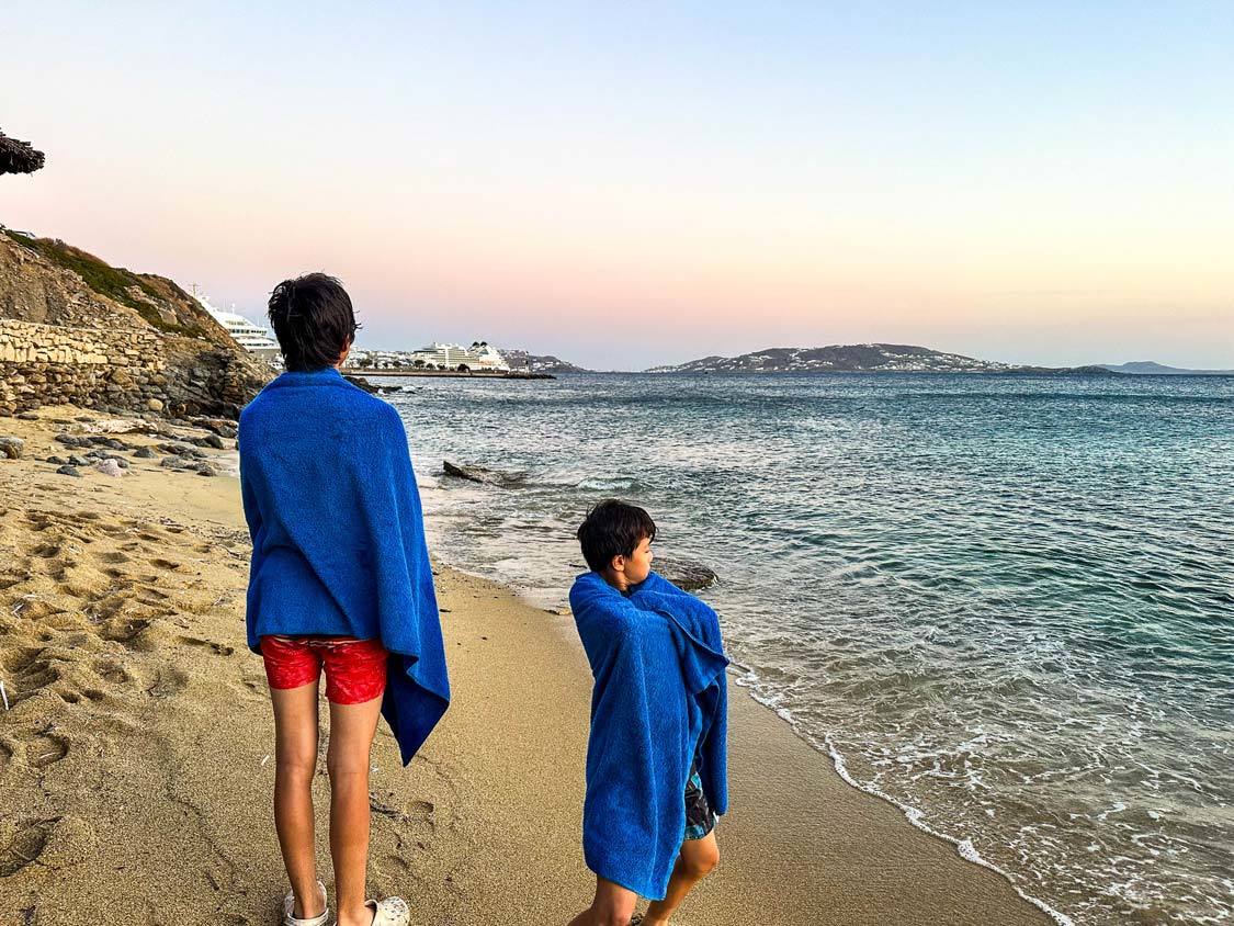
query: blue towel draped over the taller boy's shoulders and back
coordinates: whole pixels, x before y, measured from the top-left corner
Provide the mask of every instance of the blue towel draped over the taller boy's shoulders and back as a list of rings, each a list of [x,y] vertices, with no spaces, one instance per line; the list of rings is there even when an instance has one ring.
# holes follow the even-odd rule
[[[267,633],[380,638],[381,712],[407,764],[450,686],[399,412],[333,367],[286,372],[244,406],[238,441],[249,648]]]

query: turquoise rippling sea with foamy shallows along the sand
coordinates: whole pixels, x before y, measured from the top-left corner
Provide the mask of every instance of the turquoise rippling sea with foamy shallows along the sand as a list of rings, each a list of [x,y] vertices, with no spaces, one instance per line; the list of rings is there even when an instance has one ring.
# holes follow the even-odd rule
[[[383,382],[444,561],[561,604],[637,501],[855,784],[1075,922],[1234,914],[1234,379]]]

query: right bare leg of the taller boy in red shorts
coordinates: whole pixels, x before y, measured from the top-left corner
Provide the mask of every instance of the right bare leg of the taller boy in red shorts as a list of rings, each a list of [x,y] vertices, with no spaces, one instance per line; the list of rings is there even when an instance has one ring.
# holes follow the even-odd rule
[[[334,861],[338,926],[368,926],[364,875],[369,861],[369,749],[381,715],[381,696],[364,704],[329,705],[329,854]]]

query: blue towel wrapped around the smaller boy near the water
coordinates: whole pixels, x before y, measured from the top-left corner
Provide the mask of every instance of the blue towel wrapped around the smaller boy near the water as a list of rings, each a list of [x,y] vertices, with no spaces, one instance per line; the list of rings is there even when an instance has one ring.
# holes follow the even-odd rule
[[[595,678],[584,857],[601,878],[660,900],[685,832],[691,761],[712,810],[728,810],[719,620],[656,573],[628,596],[585,573],[570,609]]]

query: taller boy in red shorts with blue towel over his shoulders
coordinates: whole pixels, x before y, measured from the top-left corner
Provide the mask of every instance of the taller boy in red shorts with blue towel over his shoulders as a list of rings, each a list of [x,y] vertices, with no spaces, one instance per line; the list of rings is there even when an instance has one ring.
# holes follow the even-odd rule
[[[365,900],[369,751],[381,711],[411,762],[450,696],[407,432],[339,373],[360,326],[338,280],[285,280],[269,315],[286,372],[244,406],[238,440],[248,646],[270,683],[274,822],[291,882],[283,922],[329,920],[312,806],[325,670],[337,922],[405,926],[402,900]]]

